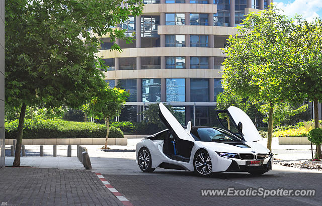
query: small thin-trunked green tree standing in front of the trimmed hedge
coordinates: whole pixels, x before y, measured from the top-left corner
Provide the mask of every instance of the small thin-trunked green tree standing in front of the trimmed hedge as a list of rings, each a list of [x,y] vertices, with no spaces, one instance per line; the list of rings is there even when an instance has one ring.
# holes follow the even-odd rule
[[[127,96],[130,94],[124,89],[110,88],[108,84],[101,89],[86,105],[83,106],[83,111],[89,116],[96,119],[104,120],[107,127],[105,149],[109,137],[110,119],[117,117],[123,105],[126,102]]]

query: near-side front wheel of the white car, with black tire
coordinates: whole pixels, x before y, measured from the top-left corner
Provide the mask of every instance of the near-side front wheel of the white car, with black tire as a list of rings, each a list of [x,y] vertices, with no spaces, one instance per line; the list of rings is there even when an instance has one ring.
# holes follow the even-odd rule
[[[202,177],[208,177],[212,173],[212,162],[209,153],[206,150],[200,150],[195,154],[193,167],[196,174]]]

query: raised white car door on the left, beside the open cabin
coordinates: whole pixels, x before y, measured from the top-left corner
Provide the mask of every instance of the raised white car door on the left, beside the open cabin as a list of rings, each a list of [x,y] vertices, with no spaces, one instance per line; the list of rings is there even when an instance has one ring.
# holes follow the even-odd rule
[[[194,141],[190,133],[178,122],[171,112],[162,103],[159,104],[158,115],[173,136],[182,140]]]

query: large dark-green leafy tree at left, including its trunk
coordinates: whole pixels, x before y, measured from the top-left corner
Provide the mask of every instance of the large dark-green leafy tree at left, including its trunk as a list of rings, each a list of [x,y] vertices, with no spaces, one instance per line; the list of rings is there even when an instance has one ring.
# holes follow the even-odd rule
[[[110,28],[140,14],[139,0],[127,3],[122,9],[120,0],[6,1],[5,101],[20,108],[14,166],[20,165],[27,106],[78,108],[104,86],[101,42],[88,29],[113,42],[131,41],[125,30]]]

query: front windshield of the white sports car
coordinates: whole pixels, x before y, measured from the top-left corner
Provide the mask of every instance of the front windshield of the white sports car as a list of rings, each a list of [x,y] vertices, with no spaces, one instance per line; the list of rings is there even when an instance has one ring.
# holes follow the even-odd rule
[[[191,135],[196,141],[202,142],[233,142],[241,141],[239,138],[235,137],[224,130],[219,130],[215,128],[193,128],[191,130]]]

